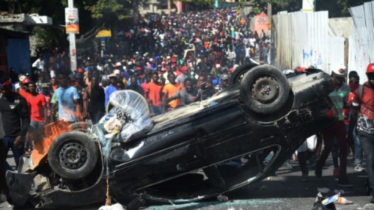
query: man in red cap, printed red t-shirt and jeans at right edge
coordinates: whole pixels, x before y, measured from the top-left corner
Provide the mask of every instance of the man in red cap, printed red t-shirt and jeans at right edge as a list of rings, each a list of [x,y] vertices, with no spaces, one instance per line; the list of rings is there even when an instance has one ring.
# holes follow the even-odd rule
[[[366,70],[368,81],[354,92],[348,138],[353,139],[353,130],[357,122],[357,134],[367,161],[368,179],[374,203],[374,63]],[[358,116],[358,117],[357,117]]]

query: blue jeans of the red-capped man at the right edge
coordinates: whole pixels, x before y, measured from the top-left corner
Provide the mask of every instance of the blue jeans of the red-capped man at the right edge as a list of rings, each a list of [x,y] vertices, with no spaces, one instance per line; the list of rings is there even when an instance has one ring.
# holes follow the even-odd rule
[[[366,166],[368,168],[368,179],[370,183],[370,187],[374,189],[374,138],[369,137],[366,132],[359,131],[358,132],[362,144],[362,148],[365,153],[366,157]],[[372,195],[374,192],[372,191]]]

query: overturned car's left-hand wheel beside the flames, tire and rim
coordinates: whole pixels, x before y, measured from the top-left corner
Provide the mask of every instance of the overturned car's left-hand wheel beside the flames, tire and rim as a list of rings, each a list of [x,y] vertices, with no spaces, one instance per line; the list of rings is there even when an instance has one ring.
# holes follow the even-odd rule
[[[48,150],[48,163],[59,176],[76,180],[86,177],[96,166],[98,148],[85,133],[70,131],[59,135]]]

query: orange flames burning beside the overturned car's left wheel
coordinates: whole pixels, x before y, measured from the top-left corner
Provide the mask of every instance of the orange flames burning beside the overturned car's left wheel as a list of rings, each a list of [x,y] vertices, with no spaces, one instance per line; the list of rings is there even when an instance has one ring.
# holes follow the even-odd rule
[[[64,121],[57,121],[44,126],[43,134],[39,136],[39,139],[32,141],[34,149],[31,152],[32,167],[31,170],[35,169],[40,162],[46,160],[49,146],[53,140],[62,133],[71,131],[70,123]],[[33,136],[37,137],[37,136]]]

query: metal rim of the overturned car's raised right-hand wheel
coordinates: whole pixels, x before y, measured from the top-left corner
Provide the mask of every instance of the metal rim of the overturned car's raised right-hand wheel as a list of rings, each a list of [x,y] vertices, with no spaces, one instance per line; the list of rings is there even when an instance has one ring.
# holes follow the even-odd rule
[[[250,95],[262,104],[270,104],[279,95],[278,82],[273,77],[260,77],[252,83]]]

